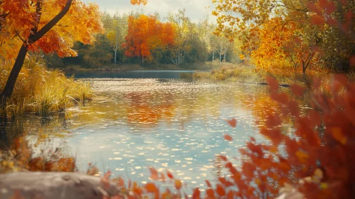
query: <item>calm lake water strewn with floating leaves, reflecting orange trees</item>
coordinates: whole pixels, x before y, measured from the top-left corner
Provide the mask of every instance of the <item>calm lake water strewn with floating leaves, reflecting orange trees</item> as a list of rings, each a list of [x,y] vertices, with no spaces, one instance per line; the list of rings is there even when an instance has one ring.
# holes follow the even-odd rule
[[[250,136],[266,142],[258,127],[277,106],[267,86],[181,80],[180,72],[140,71],[131,78],[80,73],[75,76],[90,77],[85,80],[95,92],[92,102],[70,108],[64,116],[31,115],[8,122],[0,137],[9,143],[26,132],[38,156],[41,149],[59,148],[61,154],[75,156],[80,171],[92,163],[102,172],[144,184],[152,166],[203,191],[206,179],[226,175],[219,154],[240,158],[238,149],[245,148]],[[226,122],[233,118],[235,128]],[[233,141],[224,140],[224,134]],[[238,166],[239,161],[233,163]]]

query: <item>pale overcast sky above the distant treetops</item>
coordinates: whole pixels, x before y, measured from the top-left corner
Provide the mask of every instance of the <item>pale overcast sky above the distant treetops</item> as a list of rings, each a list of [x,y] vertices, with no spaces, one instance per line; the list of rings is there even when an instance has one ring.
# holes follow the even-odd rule
[[[107,11],[110,14],[129,13],[137,9],[143,9],[145,14],[154,14],[157,12],[162,18],[167,16],[169,12],[176,13],[179,9],[186,9],[186,15],[196,22],[204,16],[208,15],[210,21],[214,18],[211,15],[212,0],[149,0],[146,6],[132,6],[129,0],[84,0],[85,2],[96,3],[102,11]],[[207,9],[206,9],[207,7]]]

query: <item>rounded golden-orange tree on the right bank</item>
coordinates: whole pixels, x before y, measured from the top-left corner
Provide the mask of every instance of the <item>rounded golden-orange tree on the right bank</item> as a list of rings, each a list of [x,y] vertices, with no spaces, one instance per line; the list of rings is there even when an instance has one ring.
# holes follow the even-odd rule
[[[253,58],[257,67],[280,74],[289,73],[292,68],[297,72],[301,68],[304,74],[316,63],[317,53],[304,41],[304,33],[295,21],[275,17],[252,31],[258,39],[246,44],[244,48],[250,45],[254,47],[250,58]]]

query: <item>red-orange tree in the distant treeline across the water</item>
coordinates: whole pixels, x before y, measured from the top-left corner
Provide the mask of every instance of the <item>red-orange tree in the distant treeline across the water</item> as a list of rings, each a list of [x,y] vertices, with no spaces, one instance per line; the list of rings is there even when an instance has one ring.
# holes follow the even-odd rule
[[[157,59],[159,53],[171,48],[175,41],[175,27],[172,23],[161,23],[155,16],[129,16],[128,33],[125,38],[124,55],[149,62]]]

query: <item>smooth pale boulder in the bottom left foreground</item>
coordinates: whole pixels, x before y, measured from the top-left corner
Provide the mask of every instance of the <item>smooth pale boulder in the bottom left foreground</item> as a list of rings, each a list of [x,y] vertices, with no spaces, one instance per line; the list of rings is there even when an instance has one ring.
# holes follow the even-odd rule
[[[83,173],[18,172],[0,175],[0,198],[80,199],[119,195],[115,183]],[[124,198],[124,197],[123,197]]]

